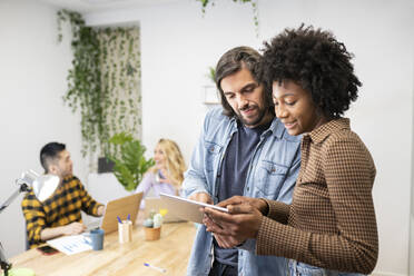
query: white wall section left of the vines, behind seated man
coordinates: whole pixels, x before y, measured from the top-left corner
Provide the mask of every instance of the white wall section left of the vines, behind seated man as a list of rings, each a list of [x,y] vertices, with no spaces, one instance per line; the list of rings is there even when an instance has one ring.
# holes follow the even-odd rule
[[[61,99],[71,60],[69,37],[57,43],[56,21],[50,6],[0,1],[0,203],[16,190],[13,181],[23,170],[42,172],[39,151],[48,141],[65,142],[75,172],[81,179],[87,176],[79,118]],[[0,214],[0,241],[8,257],[24,250],[21,198]]]

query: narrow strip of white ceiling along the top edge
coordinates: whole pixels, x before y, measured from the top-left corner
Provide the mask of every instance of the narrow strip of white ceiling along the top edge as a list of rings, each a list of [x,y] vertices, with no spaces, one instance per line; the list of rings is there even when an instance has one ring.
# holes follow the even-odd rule
[[[95,12],[115,9],[145,8],[188,0],[40,0],[49,4],[78,12]]]

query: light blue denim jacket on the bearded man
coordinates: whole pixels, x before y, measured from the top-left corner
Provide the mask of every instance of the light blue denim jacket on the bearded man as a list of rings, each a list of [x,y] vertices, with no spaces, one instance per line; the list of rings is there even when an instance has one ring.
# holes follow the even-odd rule
[[[224,116],[221,108],[210,110],[204,122],[188,170],[185,175],[184,195],[207,193],[217,204],[217,174],[231,139],[237,131],[236,119]],[[244,188],[244,196],[263,197],[290,204],[293,189],[300,166],[300,137],[287,134],[278,119],[260,136],[252,157]],[[208,275],[213,256],[213,236],[204,225],[197,234],[188,263],[187,275]],[[238,250],[238,275],[286,275],[287,262],[274,256],[257,256],[255,240],[245,243]]]

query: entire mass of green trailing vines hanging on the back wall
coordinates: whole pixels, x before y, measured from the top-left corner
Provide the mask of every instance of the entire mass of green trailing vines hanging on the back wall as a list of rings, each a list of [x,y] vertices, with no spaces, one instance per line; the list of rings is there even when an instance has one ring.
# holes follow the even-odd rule
[[[63,101],[73,112],[80,110],[83,157],[102,156],[112,135],[140,137],[139,29],[91,28],[80,13],[60,10],[59,41],[62,22],[70,23],[73,51]]]

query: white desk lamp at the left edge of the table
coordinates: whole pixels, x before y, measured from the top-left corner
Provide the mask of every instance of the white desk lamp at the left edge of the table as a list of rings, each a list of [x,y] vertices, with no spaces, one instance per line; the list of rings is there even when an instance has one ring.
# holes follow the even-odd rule
[[[30,188],[33,190],[34,196],[40,200],[45,201],[55,190],[58,188],[60,179],[58,176],[52,175],[39,175],[33,170],[24,171],[20,178],[16,179],[18,189],[0,206],[0,213],[2,213],[20,194],[29,191]],[[0,243],[0,267],[3,270],[4,276],[30,276],[34,273],[26,268],[11,269],[11,264],[7,262],[3,253],[3,247]]]

